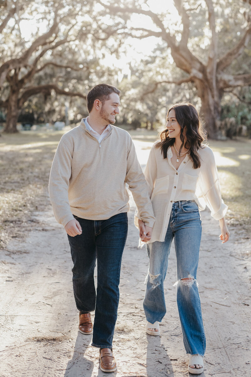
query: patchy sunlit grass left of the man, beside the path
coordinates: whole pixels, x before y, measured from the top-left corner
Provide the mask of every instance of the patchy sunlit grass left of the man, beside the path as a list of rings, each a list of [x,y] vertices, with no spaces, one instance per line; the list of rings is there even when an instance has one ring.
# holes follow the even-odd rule
[[[37,225],[33,215],[49,206],[48,180],[64,132],[24,131],[0,137],[0,247]]]

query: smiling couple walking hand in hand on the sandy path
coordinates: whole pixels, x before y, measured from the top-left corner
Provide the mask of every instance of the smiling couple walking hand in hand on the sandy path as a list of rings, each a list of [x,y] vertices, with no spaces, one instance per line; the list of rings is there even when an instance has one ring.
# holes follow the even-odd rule
[[[108,84],[87,94],[89,116],[65,133],[56,150],[49,181],[56,220],[68,235],[73,260],[73,292],[79,331],[93,334],[100,369],[117,369],[113,334],[119,305],[119,278],[129,211],[126,183],[137,205],[134,223],[149,256],[143,307],[146,333],[160,335],[166,314],[164,279],[172,240],[177,267],[177,305],[188,370],[203,372],[205,334],[196,281],[201,242],[199,210],[207,205],[219,220],[222,243],[229,239],[212,150],[195,107],[178,103],[167,113],[166,129],[150,151],[143,174],[128,132],[112,126],[120,90]],[[94,268],[97,261],[97,289]],[[95,311],[94,323],[90,312]]]

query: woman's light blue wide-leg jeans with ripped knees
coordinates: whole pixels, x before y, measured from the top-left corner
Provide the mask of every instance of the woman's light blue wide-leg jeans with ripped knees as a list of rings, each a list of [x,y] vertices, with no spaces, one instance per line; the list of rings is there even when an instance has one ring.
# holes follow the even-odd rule
[[[146,245],[149,256],[149,273],[143,302],[146,319],[150,323],[161,322],[166,314],[163,284],[173,238],[176,252],[177,305],[184,345],[187,353],[203,356],[205,333],[196,281],[201,220],[198,205],[193,200],[174,202],[165,241]]]

